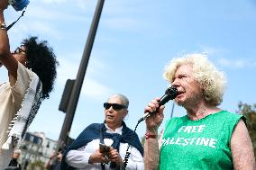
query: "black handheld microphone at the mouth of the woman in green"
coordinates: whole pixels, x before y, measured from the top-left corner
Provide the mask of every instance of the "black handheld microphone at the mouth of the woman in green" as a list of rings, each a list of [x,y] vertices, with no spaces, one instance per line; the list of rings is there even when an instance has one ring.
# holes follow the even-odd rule
[[[165,91],[165,94],[160,98],[160,102],[159,102],[159,105],[164,105],[165,103],[168,103],[169,100],[173,100],[175,99],[175,97],[177,97],[178,95],[178,90],[176,87],[174,86],[170,86],[166,91]],[[160,107],[159,106],[159,107]],[[152,112],[146,112],[142,118],[139,120],[140,122],[141,121],[144,121],[146,120],[150,115],[151,115]]]

